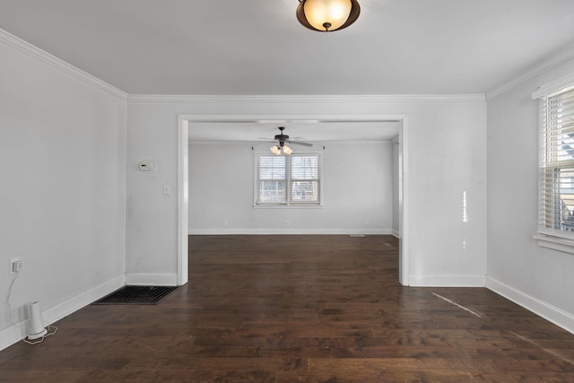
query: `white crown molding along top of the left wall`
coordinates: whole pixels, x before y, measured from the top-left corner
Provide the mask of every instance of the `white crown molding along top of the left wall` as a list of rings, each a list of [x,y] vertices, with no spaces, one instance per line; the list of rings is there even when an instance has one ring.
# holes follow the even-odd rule
[[[13,48],[14,50],[17,50],[29,57],[35,58],[43,64],[52,66],[53,68],[56,68],[65,74],[70,74],[76,79],[81,80],[83,83],[87,83],[94,88],[99,89],[100,91],[105,91],[112,96],[117,97],[118,99],[127,100],[127,93],[125,91],[121,91],[109,83],[105,83],[99,78],[83,72],[83,70],[75,67],[74,65],[70,65],[64,60],[50,55],[48,52],[35,47],[2,29],[0,29],[0,43],[4,44],[6,47]]]

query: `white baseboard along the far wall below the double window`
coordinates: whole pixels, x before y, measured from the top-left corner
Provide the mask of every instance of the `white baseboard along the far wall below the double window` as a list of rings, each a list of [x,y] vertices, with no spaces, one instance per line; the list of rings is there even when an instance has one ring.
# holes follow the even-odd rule
[[[391,229],[190,229],[189,235],[391,235]]]

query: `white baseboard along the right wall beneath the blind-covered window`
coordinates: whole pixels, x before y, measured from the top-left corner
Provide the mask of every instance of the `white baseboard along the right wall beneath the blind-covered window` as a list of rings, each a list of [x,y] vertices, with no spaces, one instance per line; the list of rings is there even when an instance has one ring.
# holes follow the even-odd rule
[[[536,315],[560,326],[566,331],[574,334],[574,315],[562,310],[544,300],[539,300],[526,292],[521,292],[508,284],[501,283],[490,276],[486,278],[486,287],[492,292],[512,300],[517,305],[534,312]]]

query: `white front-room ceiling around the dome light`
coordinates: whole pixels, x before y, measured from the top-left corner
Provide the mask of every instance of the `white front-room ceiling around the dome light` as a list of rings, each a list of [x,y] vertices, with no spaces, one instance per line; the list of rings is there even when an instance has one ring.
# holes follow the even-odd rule
[[[130,94],[482,94],[574,51],[574,0],[359,3],[331,33],[297,0],[0,0],[0,28]]]

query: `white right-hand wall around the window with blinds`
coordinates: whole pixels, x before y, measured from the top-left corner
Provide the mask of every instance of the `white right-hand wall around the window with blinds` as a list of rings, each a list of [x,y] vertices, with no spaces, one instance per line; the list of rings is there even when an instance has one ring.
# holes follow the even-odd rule
[[[488,101],[488,286],[574,332],[574,255],[541,248],[537,228],[539,86],[574,60]]]

